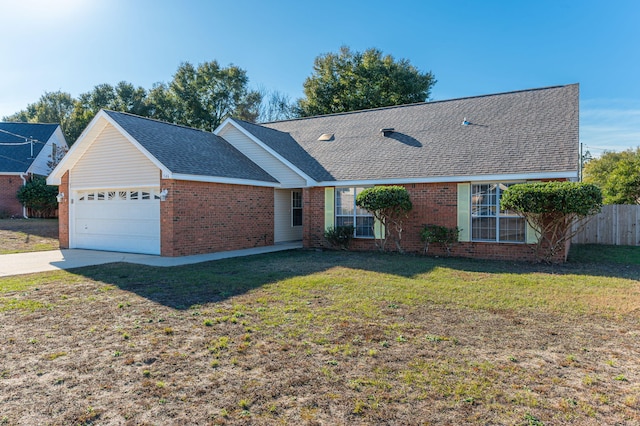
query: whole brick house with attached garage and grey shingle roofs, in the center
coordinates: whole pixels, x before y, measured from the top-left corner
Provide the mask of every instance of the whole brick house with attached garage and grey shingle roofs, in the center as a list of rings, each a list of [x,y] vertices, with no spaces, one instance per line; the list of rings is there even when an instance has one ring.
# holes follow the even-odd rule
[[[453,254],[533,259],[535,233],[500,210],[509,185],[578,176],[578,85],[265,124],[212,133],[101,111],[49,177],[63,247],[182,256],[302,240],[354,225],[374,249],[363,188],[402,185],[424,224],[461,229]],[[432,249],[430,249],[431,251]],[[564,253],[562,254],[564,255]]]

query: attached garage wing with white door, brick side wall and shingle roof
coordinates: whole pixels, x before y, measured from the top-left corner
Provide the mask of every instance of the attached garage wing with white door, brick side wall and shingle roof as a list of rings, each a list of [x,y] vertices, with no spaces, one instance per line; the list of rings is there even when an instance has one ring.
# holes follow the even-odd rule
[[[102,110],[47,182],[62,248],[189,256],[274,243],[280,182],[210,132]]]

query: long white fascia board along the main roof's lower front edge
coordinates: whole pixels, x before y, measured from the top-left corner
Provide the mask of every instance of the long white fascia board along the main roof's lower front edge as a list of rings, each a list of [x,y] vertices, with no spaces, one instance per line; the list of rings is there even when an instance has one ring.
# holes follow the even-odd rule
[[[367,180],[336,180],[318,182],[317,186],[370,186],[370,185],[402,185],[411,183],[461,183],[461,182],[507,182],[539,179],[571,179],[577,172],[545,172],[526,174],[474,175],[474,176],[436,176],[425,178],[393,178]]]

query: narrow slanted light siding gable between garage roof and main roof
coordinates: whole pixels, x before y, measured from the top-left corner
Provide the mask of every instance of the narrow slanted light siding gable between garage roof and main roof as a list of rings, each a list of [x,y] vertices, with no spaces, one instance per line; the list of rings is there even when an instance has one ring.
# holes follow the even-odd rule
[[[233,125],[225,126],[218,135],[222,136],[238,151],[276,178],[278,182],[282,184],[283,188],[300,188],[307,186],[307,182],[302,176],[291,170],[291,168],[282,163],[282,161],[273,154],[256,144]]]

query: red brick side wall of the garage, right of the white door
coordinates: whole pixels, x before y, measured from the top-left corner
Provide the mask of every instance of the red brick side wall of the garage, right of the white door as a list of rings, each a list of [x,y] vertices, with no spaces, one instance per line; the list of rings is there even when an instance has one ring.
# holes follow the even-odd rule
[[[273,188],[161,180],[162,256],[273,245]]]

